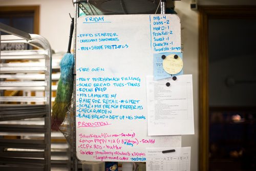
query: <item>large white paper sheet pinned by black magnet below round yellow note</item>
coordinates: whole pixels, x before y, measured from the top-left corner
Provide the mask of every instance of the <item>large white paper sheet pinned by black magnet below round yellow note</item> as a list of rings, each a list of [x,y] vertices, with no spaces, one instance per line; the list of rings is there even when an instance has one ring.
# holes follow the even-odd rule
[[[149,136],[194,134],[192,75],[147,76],[147,114]]]

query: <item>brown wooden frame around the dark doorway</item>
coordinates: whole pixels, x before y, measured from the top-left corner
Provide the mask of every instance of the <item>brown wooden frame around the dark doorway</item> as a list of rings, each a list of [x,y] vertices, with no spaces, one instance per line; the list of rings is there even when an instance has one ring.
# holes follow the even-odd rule
[[[256,6],[199,6],[199,170],[209,170],[208,19],[256,18]]]

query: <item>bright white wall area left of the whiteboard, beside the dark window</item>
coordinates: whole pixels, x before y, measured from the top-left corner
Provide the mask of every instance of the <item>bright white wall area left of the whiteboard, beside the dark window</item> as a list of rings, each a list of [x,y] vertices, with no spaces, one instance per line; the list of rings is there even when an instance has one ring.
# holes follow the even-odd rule
[[[44,36],[55,52],[68,49],[71,16],[74,7],[71,0],[0,0],[0,6],[39,5],[39,34]]]

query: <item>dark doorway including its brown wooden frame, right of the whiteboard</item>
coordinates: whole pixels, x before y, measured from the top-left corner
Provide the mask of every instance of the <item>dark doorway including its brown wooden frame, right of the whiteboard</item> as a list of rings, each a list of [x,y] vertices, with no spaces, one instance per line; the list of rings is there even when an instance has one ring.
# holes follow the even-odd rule
[[[200,170],[255,170],[256,7],[200,7]]]

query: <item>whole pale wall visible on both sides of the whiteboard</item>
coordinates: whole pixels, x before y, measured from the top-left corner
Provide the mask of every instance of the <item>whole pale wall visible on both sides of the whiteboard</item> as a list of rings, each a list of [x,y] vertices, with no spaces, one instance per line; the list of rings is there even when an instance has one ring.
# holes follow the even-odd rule
[[[256,5],[254,0],[198,0],[199,5]],[[184,45],[184,74],[193,74],[195,135],[182,136],[182,146],[191,146],[191,171],[198,170],[198,12],[190,9],[191,0],[175,2],[181,18]],[[55,51],[67,51],[70,17],[74,16],[71,0],[0,0],[0,6],[40,5],[39,34],[46,37]]]

